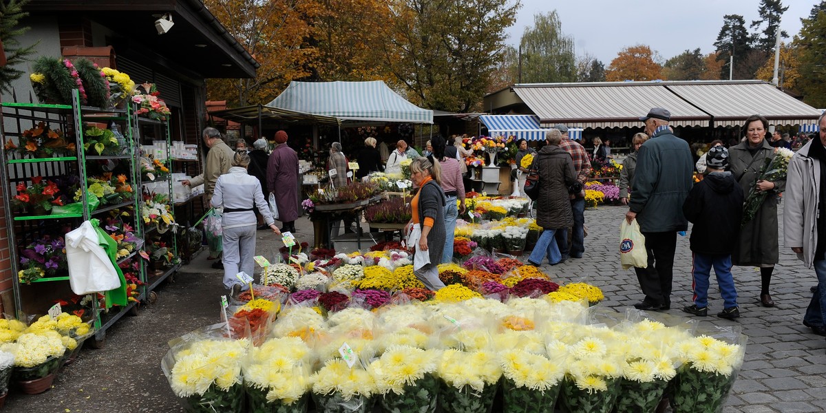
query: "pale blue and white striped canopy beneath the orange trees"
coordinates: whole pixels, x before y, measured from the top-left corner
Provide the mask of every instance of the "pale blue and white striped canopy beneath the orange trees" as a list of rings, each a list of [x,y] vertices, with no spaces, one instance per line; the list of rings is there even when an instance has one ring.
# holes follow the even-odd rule
[[[422,109],[393,92],[381,80],[372,82],[291,82],[268,107],[342,121],[433,123],[433,111]]]

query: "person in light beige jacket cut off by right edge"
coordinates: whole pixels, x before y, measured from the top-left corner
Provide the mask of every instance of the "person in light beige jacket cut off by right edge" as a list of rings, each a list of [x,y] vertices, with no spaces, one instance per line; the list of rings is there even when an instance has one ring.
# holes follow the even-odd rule
[[[807,268],[814,266],[814,288],[803,324],[826,335],[826,114],[818,120],[819,138],[809,140],[791,157],[783,207],[785,244]]]

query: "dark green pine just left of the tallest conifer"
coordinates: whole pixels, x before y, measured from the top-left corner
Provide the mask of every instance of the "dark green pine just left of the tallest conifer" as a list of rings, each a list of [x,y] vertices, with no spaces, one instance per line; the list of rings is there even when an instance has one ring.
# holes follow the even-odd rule
[[[733,78],[753,78],[757,67],[750,67],[749,56],[752,55],[752,39],[746,30],[746,21],[738,14],[723,17],[723,27],[714,41],[717,59],[722,61],[720,78],[729,78],[728,64],[734,56]]]

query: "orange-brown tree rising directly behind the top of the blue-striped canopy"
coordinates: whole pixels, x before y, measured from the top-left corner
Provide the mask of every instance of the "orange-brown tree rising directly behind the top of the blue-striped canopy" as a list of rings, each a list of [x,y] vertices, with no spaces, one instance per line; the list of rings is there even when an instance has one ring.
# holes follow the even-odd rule
[[[312,80],[392,80],[384,64],[392,16],[380,0],[318,0],[308,40],[318,55],[310,65]],[[389,56],[396,56],[387,50]],[[391,57],[396,59],[397,57]]]

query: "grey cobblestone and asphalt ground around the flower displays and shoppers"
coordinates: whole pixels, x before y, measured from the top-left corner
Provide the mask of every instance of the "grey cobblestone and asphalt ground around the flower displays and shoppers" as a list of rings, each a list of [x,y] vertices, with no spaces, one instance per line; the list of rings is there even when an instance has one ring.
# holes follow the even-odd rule
[[[554,267],[548,273],[562,282],[585,279],[602,288],[601,306],[625,311],[643,299],[632,270],[619,266],[619,223],[624,207],[586,211],[586,253]],[[781,208],[782,211],[782,208]],[[782,219],[781,219],[782,223]],[[312,242],[312,225],[296,222],[297,238]],[[781,230],[782,233],[782,230]],[[272,256],[280,246],[272,232],[258,233],[258,254]],[[366,247],[365,247],[366,248]],[[346,251],[345,251],[346,252]],[[200,254],[184,266],[173,282],[159,288],[156,303],[143,306],[140,315],[124,317],[107,333],[104,349],[84,349],[78,361],[59,374],[55,387],[36,396],[12,390],[5,411],[55,412],[170,412],[181,411],[160,369],[169,339],[217,321],[218,298],[226,290],[221,271],[209,267]],[[674,289],[670,316],[691,304],[691,252],[688,237],[677,240]],[[790,249],[781,246],[771,296],[777,305],[758,302],[760,273],[756,268],[733,268],[742,316],[723,320],[700,318],[700,324],[739,325],[748,335],[745,363],[735,382],[725,413],[826,411],[826,341],[801,325],[809,303],[814,270],[804,268]],[[714,281],[710,287],[710,314],[722,309]]]

